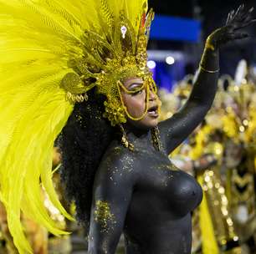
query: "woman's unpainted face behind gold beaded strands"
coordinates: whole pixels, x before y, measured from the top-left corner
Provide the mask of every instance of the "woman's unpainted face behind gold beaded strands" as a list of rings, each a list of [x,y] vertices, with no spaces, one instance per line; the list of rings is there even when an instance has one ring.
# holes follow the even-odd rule
[[[125,79],[124,85],[129,91],[136,90],[143,85],[143,80],[141,78]],[[146,89],[142,89],[135,94],[127,94],[122,90],[121,94],[128,113],[134,118],[140,118],[146,110]],[[159,118],[159,107],[160,100],[158,96],[150,90],[148,110],[144,118],[136,121],[127,116],[127,122],[142,130],[156,127]]]

